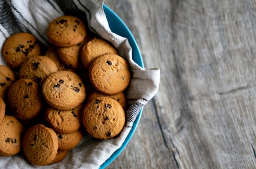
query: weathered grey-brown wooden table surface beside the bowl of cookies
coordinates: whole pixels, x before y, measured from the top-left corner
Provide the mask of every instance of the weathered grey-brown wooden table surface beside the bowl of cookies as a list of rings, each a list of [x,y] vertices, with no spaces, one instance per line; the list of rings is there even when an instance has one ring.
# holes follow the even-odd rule
[[[107,168],[256,168],[256,3],[105,1],[146,68],[161,69],[125,150]]]

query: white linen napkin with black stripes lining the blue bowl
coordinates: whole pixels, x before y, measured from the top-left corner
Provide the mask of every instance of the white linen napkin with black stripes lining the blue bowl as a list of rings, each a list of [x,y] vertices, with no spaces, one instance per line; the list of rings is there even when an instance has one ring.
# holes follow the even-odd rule
[[[0,157],[0,168],[100,168],[124,143],[141,108],[156,94],[160,83],[160,69],[145,69],[132,60],[128,40],[112,33],[103,9],[104,0],[0,0],[0,49],[5,40],[18,32],[34,34],[48,47],[46,28],[55,18],[65,14],[79,16],[88,24],[91,32],[109,40],[129,63],[132,79],[127,90],[129,108],[127,123],[120,136],[108,140],[96,140],[85,136],[67,157],[49,166],[33,166],[22,155]],[[0,64],[5,64],[1,52]],[[135,150],[131,150],[135,151]]]

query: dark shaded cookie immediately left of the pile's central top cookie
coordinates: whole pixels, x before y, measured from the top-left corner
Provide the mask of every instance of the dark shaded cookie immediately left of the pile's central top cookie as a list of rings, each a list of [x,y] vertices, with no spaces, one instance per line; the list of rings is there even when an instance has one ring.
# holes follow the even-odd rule
[[[36,117],[43,107],[40,86],[31,79],[15,81],[8,90],[7,103],[18,119],[26,120]]]

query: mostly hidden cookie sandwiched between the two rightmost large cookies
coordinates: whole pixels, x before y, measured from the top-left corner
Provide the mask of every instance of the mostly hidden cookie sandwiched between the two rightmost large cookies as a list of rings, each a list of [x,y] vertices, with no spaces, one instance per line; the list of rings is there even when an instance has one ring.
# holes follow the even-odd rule
[[[90,101],[95,98],[99,98],[100,96],[107,96],[112,99],[115,99],[116,101],[118,101],[121,104],[121,106],[124,109],[126,107],[126,98],[125,98],[125,94],[123,92],[116,94],[116,95],[104,95],[104,94],[98,93],[97,91],[92,91],[90,93],[90,95],[88,95],[87,101]]]

